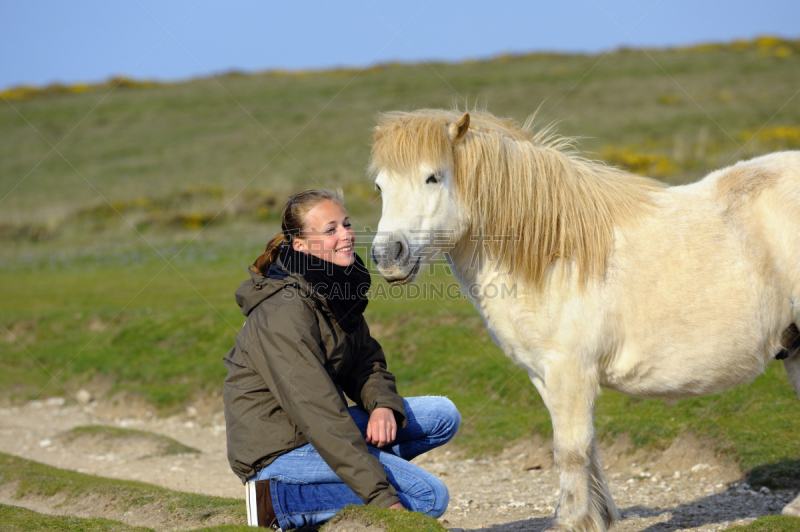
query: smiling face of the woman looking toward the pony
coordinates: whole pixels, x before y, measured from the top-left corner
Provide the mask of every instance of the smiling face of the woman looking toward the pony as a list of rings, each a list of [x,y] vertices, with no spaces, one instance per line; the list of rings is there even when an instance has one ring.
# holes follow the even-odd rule
[[[335,201],[324,201],[308,211],[305,222],[303,234],[292,241],[295,251],[337,266],[350,266],[355,262],[355,234],[344,207]]]

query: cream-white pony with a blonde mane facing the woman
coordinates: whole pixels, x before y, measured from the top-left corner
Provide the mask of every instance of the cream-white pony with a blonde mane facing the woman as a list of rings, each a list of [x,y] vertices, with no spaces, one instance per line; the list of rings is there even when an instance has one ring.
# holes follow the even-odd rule
[[[561,485],[551,530],[618,519],[595,445],[601,386],[713,394],[777,357],[800,393],[800,152],[666,187],[529,124],[420,110],[379,117],[370,170],[383,277],[413,281],[444,252],[547,405]]]

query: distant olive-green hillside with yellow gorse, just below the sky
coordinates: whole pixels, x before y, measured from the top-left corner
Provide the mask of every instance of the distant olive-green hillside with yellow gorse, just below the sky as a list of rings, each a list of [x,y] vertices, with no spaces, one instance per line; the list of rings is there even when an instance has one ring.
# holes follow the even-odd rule
[[[352,185],[354,197],[370,200],[364,168],[374,115],[454,104],[519,121],[539,109],[541,123],[559,121],[561,133],[584,137],[582,147],[596,157],[686,182],[745,156],[800,146],[798,64],[800,42],[762,38],[176,85],[112,80],[79,92],[10,90],[0,106],[0,223],[8,236],[30,224],[49,237],[67,220],[118,222],[116,213],[98,212],[111,204],[158,225],[152,211],[165,203],[206,223],[222,205],[228,218],[257,214],[242,197],[269,207],[273,195],[330,183]],[[137,207],[149,217],[134,216]],[[372,221],[375,206],[366,210]]]

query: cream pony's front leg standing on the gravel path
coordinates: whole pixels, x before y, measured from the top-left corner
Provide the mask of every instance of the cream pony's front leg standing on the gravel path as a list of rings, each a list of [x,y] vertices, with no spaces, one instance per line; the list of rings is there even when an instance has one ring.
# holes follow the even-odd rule
[[[553,421],[553,454],[561,490],[547,530],[603,532],[619,515],[608,490],[594,438],[595,378],[575,360],[550,360],[545,379],[534,377]]]

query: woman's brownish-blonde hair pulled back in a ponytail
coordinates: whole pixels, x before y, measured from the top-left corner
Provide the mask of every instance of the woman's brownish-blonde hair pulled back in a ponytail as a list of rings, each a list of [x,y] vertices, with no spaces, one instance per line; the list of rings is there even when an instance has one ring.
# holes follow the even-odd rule
[[[281,214],[281,232],[269,239],[267,246],[264,248],[264,253],[250,266],[250,271],[266,277],[269,267],[278,259],[278,255],[281,253],[281,245],[291,245],[292,240],[298,237],[305,229],[308,212],[326,201],[334,201],[344,207],[344,199],[340,191],[311,189],[292,196],[283,208],[283,214]]]

